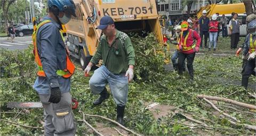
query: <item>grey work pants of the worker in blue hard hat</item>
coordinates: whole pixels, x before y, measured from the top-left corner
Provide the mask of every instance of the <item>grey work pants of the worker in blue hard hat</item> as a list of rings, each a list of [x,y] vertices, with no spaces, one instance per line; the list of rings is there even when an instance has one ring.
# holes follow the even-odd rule
[[[44,107],[44,135],[75,135],[76,123],[70,92],[62,93],[58,104],[49,103],[50,95],[39,95]]]

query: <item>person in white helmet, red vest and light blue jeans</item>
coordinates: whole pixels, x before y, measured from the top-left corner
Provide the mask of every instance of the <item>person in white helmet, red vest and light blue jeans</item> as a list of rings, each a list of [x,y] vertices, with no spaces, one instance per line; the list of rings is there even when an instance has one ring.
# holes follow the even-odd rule
[[[217,37],[218,37],[218,24],[219,22],[217,21],[217,14],[212,15],[212,20],[209,23],[209,31],[210,31],[210,44],[208,51],[211,51],[211,46],[213,45],[213,51],[216,50],[216,45],[217,45]]]

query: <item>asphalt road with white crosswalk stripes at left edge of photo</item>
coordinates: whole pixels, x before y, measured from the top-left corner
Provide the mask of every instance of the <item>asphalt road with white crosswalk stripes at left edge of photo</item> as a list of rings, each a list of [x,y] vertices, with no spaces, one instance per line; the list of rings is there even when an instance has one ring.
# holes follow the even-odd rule
[[[7,39],[7,37],[0,37],[0,48],[7,48],[10,50],[26,49],[29,44],[32,43],[33,41],[31,36],[15,37],[13,43],[11,43],[11,38]]]

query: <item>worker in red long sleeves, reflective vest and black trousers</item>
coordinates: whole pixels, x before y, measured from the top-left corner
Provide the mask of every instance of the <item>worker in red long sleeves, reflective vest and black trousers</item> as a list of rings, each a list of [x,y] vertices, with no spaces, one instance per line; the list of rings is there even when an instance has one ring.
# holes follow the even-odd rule
[[[182,65],[184,60],[187,58],[187,67],[190,75],[190,80],[194,80],[193,62],[196,53],[199,52],[199,46],[201,44],[201,38],[195,30],[188,28],[189,24],[187,21],[181,23],[181,33],[179,41],[179,60],[178,69],[179,75],[182,75]],[[194,44],[196,40],[196,44]]]

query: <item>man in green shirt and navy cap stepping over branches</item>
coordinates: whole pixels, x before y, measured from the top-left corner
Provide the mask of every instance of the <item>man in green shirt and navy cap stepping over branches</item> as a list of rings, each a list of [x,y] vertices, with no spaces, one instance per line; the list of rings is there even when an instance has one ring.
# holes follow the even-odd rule
[[[84,73],[89,74],[91,67],[103,60],[102,66],[95,70],[89,86],[93,94],[99,94],[99,98],[93,105],[99,105],[109,98],[106,89],[107,83],[115,103],[117,105],[117,122],[124,125],[124,109],[128,96],[128,82],[133,79],[134,49],[131,39],[124,32],[115,28],[114,20],[110,16],[103,16],[100,25],[103,35],[100,37],[97,51]]]

